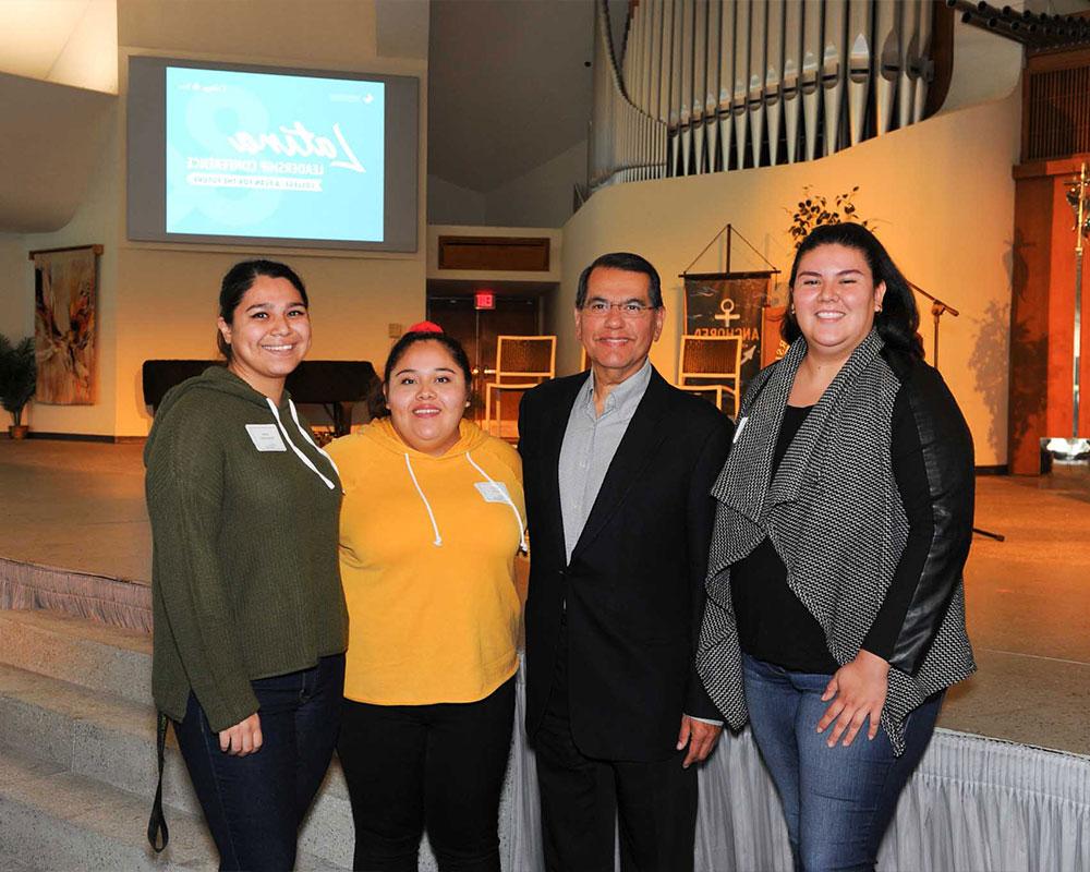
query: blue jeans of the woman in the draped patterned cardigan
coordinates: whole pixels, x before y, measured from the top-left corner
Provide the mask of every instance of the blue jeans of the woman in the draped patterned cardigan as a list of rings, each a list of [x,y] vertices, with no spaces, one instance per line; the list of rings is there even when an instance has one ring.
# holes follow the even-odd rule
[[[905,722],[905,753],[896,756],[885,730],[861,729],[847,748],[818,732],[829,703],[829,676],[791,673],[743,655],[742,675],[753,739],[784,803],[799,872],[873,870],[879,845],[909,775],[931,740],[942,693]],[[865,726],[865,725],[864,725]]]

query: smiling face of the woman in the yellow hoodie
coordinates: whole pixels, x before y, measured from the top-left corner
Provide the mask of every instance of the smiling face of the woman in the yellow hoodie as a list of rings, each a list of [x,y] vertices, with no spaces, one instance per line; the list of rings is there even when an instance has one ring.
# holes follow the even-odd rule
[[[469,385],[443,343],[411,344],[393,364],[383,390],[393,429],[410,448],[438,457],[458,441]]]

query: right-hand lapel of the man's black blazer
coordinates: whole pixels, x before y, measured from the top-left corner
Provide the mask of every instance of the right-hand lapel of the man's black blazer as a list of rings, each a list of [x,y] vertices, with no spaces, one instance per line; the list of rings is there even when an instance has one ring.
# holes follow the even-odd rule
[[[602,487],[591,507],[583,532],[571,552],[572,560],[602,532],[602,528],[623,502],[632,485],[640,480],[640,473],[654,458],[655,449],[666,438],[669,428],[661,427],[659,422],[669,409],[669,390],[666,380],[656,370],[652,370],[647,390],[640,400],[620,445],[617,446],[617,452],[609,463],[606,477],[602,481]],[[557,485],[557,499],[559,500],[559,485]]]

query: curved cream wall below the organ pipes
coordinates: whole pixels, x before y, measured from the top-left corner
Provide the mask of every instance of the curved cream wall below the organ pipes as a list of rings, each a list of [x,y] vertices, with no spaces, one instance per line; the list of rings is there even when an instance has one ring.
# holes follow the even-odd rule
[[[598,191],[564,228],[560,319],[561,372],[574,372],[579,348],[570,307],[580,270],[608,251],[650,258],[663,276],[667,328],[652,362],[667,377],[677,370],[682,331],[678,278],[728,221],[771,262],[789,270],[790,209],[806,185],[832,199],[859,185],[859,215],[870,219],[906,276],[960,311],[941,327],[941,370],[973,432],[977,463],[1007,459],[1007,339],[1010,243],[1018,159],[1019,97],[932,118],[812,164],[714,175],[634,182]],[[743,245],[734,268],[759,268]],[[723,267],[708,251],[693,271]],[[923,301],[924,303],[927,301]],[[921,305],[929,349],[932,326]]]

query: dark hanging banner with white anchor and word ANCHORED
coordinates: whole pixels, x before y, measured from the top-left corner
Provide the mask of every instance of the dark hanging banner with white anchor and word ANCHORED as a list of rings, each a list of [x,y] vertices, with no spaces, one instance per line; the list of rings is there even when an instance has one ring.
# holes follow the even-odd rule
[[[779,338],[780,306],[770,307],[773,271],[688,272],[685,278],[686,332],[742,338],[741,389],[763,365],[787,350]],[[767,325],[767,326],[766,326]],[[764,334],[764,336],[762,336]]]

